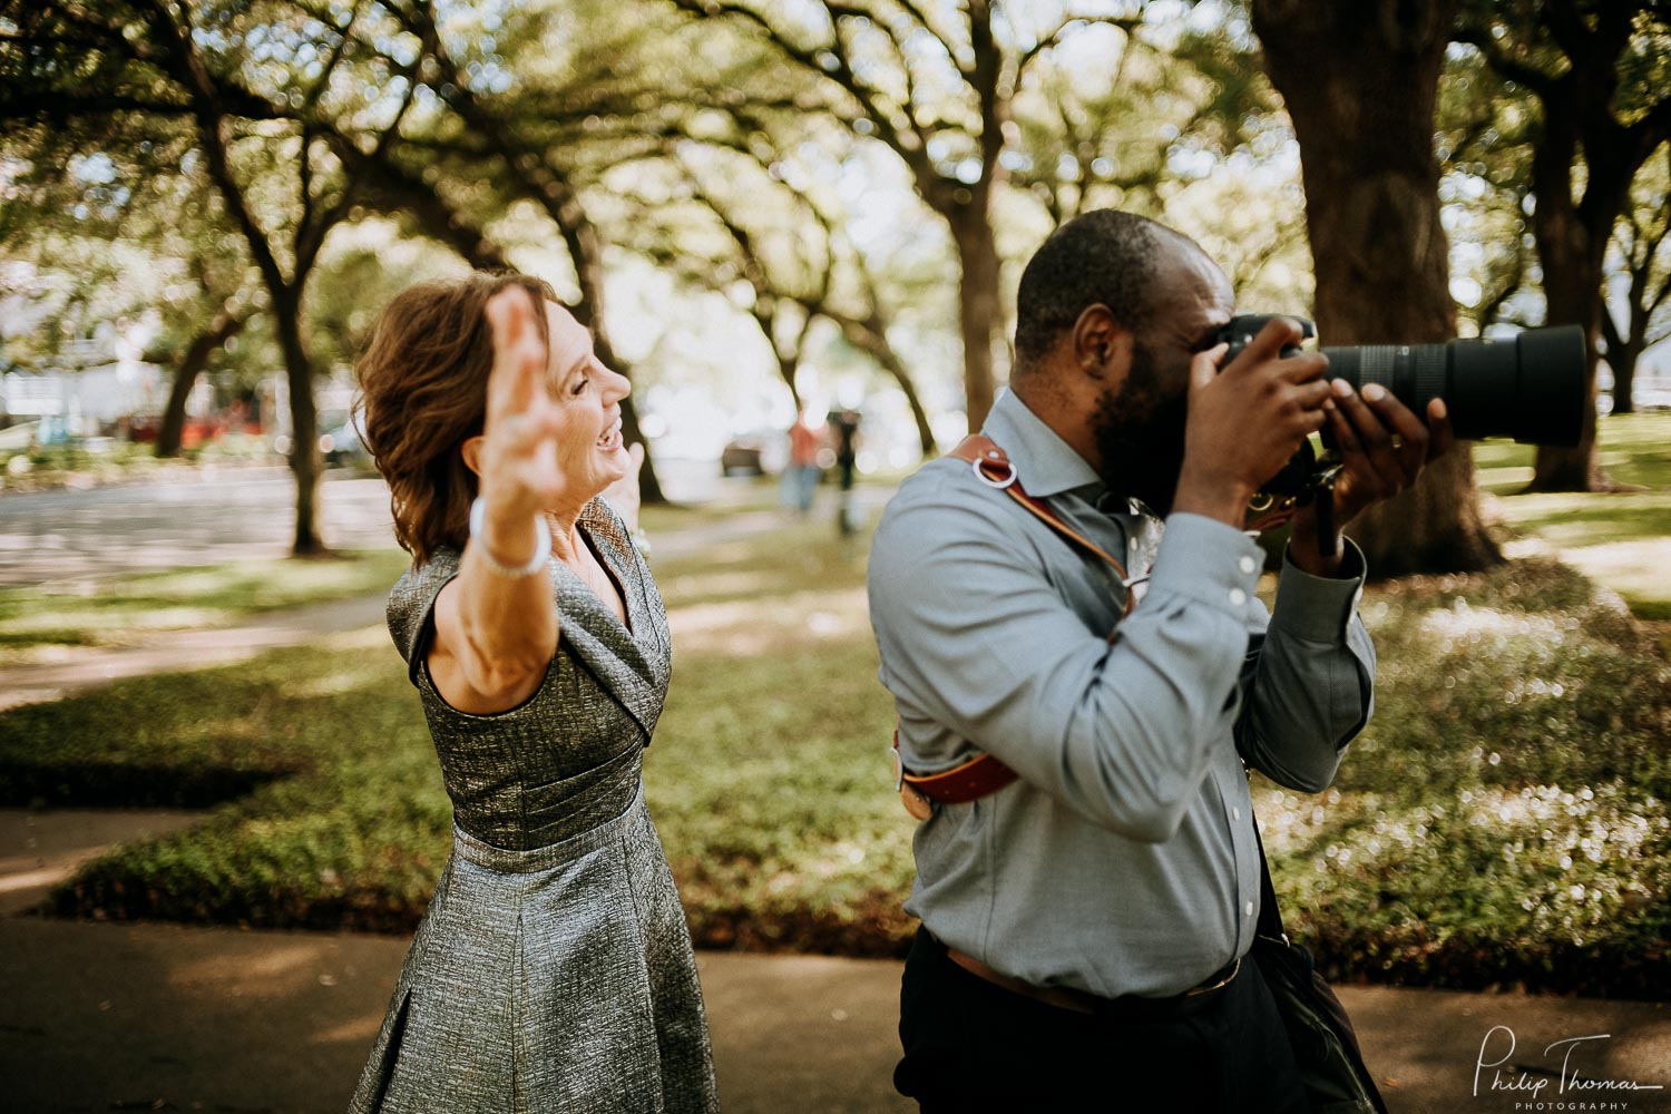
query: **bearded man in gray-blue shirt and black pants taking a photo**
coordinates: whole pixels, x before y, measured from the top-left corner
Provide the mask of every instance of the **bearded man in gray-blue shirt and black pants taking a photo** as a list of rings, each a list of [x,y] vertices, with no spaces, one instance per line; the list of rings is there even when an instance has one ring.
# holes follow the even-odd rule
[[[1364,561],[1335,524],[1414,483],[1449,426],[1332,382],[1292,319],[1220,367],[1232,307],[1188,237],[1064,224],[1023,274],[986,439],[877,529],[881,678],[926,793],[906,785],[922,930],[894,1082],[924,1111],[1307,1109],[1243,962],[1245,767],[1320,792],[1369,720]],[[1295,514],[1267,611],[1248,503],[1323,428],[1333,514]]]

